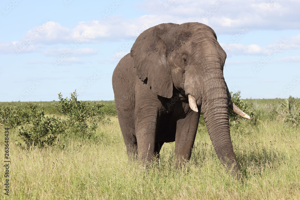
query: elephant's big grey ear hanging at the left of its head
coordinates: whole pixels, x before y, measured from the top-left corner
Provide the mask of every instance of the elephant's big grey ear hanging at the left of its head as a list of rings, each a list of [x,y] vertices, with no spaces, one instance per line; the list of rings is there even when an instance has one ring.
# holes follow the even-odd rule
[[[171,98],[173,81],[167,66],[167,44],[162,38],[177,24],[160,24],[137,37],[130,55],[134,59],[137,76],[157,95]]]

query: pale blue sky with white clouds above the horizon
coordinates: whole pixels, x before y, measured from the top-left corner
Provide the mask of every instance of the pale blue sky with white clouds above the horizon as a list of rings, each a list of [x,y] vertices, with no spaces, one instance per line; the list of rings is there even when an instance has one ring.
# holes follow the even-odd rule
[[[111,77],[160,23],[209,25],[227,53],[229,91],[300,97],[300,1],[140,0],[0,3],[0,101],[113,100]]]

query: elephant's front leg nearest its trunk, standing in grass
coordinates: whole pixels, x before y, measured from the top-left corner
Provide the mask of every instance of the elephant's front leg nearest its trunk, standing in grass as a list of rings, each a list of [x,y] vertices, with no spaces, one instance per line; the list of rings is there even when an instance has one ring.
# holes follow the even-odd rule
[[[190,159],[199,123],[199,114],[191,111],[179,119],[176,126],[175,164],[176,168]]]

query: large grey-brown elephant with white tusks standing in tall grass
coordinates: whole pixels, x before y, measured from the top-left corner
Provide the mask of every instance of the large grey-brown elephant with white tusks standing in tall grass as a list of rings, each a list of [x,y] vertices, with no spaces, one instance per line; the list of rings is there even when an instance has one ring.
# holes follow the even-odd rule
[[[143,31],[112,77],[116,110],[128,157],[144,163],[175,142],[175,164],[191,157],[200,112],[221,163],[239,177],[229,131],[231,108],[244,118],[224,80],[226,53],[212,28],[164,23]]]

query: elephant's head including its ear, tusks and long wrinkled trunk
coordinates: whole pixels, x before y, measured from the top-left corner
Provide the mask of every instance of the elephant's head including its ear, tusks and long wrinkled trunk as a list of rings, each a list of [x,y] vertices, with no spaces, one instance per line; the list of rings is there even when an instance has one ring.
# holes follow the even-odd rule
[[[228,107],[250,118],[230,100],[223,76],[226,53],[215,32],[201,23],[160,24],[139,35],[131,53],[137,76],[157,95],[183,91],[190,108],[204,114],[218,158],[238,172],[229,132]]]

